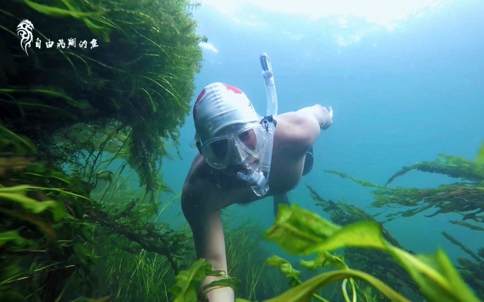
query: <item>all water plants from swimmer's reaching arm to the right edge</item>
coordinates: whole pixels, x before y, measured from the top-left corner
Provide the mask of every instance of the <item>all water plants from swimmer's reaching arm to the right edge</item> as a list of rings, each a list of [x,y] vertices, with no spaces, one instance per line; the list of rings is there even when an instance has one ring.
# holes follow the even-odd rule
[[[289,284],[292,289],[263,301],[306,302],[311,299],[311,301],[330,301],[327,297],[317,295],[316,292],[321,287],[339,280],[343,280],[341,284],[343,299],[336,301],[411,301],[402,293],[412,296],[414,301],[481,301],[479,298],[482,299],[484,294],[482,283],[484,248],[480,248],[475,253],[462,242],[443,232],[447,239],[473,259],[459,258],[460,266],[454,267],[442,249],[438,248],[433,254],[415,254],[402,247],[383,227],[388,219],[417,214],[421,211],[422,204],[425,204],[424,207],[428,209],[432,207],[438,209],[435,214],[427,217],[452,211],[462,214],[464,220],[472,219],[476,223],[481,223],[482,216],[479,213],[481,213],[483,198],[480,194],[484,190],[484,167],[480,161],[481,156],[479,155],[476,161],[470,161],[441,154],[433,162],[403,167],[387,182],[389,184],[395,177],[402,176],[412,169],[441,173],[461,180],[451,187],[441,185],[434,189],[388,188],[387,184],[375,185],[344,173],[327,171],[349,178],[363,186],[375,188],[372,192],[375,195],[373,206],[385,208],[398,204],[410,209],[388,214],[385,221],[378,222],[375,217],[379,214],[369,215],[361,208],[346,202],[324,200],[311,187],[309,187],[311,197],[323,211],[330,214],[333,222],[304,210],[296,204],[290,207],[280,205],[276,221],[264,232],[264,236],[291,254],[316,254],[313,261],[301,260],[302,267],[309,270],[321,267],[333,269],[303,281],[300,278],[301,271],[296,270],[288,261],[272,256],[267,259],[267,264],[279,267],[281,273],[290,279]],[[449,190],[452,194],[449,194]],[[416,211],[412,207],[417,207],[419,210]],[[468,213],[469,211],[471,214]],[[460,221],[457,223],[453,220],[450,222],[475,231],[483,230],[478,224]],[[345,248],[343,255],[333,254],[343,247]],[[358,267],[358,269],[352,267]],[[200,259],[192,264],[190,269],[182,271],[169,289],[174,293],[175,301],[197,301],[196,285],[204,279],[206,272],[210,272],[210,268],[210,264]],[[237,285],[230,282],[230,278],[218,283],[220,284],[232,287]],[[247,302],[243,299],[237,299],[237,301]]]

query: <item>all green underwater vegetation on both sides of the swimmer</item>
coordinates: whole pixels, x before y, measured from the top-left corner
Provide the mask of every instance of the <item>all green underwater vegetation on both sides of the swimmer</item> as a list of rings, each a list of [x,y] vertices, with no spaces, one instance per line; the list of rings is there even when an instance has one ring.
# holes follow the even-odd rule
[[[190,230],[172,229],[163,216],[179,195],[163,182],[162,160],[167,144],[178,145],[205,39],[194,32],[193,8],[183,0],[2,1],[0,301],[191,302],[206,274],[218,274],[194,261]],[[16,32],[27,19],[30,47]],[[55,45],[69,38],[97,39],[98,47]],[[429,218],[458,213],[463,219],[450,223],[482,232],[483,162],[484,146],[476,161],[442,155],[388,182],[415,169],[458,180],[430,189],[328,172],[374,188],[374,206],[406,207],[385,221],[435,209]],[[483,248],[443,233],[470,257],[455,268],[440,249],[405,249],[374,215],[314,190],[311,197],[332,222],[293,205],[280,206],[265,232],[249,223],[226,230],[235,278],[208,287],[274,302],[484,299]],[[305,280],[289,261],[266,257],[262,233],[291,254],[315,254],[299,265],[323,272]],[[319,291],[336,282],[339,297]]]

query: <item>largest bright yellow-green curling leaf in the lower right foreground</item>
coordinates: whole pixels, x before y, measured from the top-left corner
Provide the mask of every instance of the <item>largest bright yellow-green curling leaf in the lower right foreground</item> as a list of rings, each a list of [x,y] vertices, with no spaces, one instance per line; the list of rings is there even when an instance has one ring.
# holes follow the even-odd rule
[[[305,227],[304,231],[299,229],[302,225]],[[330,228],[327,229],[327,226]],[[338,227],[315,216],[314,213],[300,209],[297,205],[292,205],[290,208],[280,205],[276,221],[265,234],[269,240],[277,242],[292,253],[308,254],[344,246],[384,250],[405,268],[429,301],[479,301],[442,250],[438,249],[433,255],[413,256],[387,242],[382,236],[379,225],[373,221],[360,221]],[[369,281],[363,276],[359,277]],[[398,300],[400,298],[397,296],[390,297],[386,288],[374,283],[372,285],[388,298],[404,301]],[[294,301],[308,301],[305,300],[308,296],[302,296],[302,293],[299,295],[301,300]]]

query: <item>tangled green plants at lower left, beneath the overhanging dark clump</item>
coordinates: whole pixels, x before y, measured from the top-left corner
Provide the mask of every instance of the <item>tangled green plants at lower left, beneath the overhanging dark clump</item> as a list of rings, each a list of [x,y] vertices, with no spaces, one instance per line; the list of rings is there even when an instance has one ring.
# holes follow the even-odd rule
[[[189,232],[174,231],[158,222],[158,216],[153,218],[158,202],[126,200],[126,192],[121,197],[118,173],[103,173],[113,176],[106,179],[111,182],[109,191],[96,189],[80,177],[39,161],[28,138],[0,125],[1,301],[82,301],[78,298],[91,295],[102,297],[99,302],[111,296],[124,300],[139,297],[139,291],[129,291],[126,284],[138,282],[141,290],[140,284],[150,288],[160,282],[159,277],[170,282],[183,264],[180,258],[192,250]],[[92,198],[97,190],[109,196],[107,201]],[[176,198],[166,202],[159,214]],[[150,260],[144,263],[146,253]],[[113,278],[127,276],[113,269],[129,260],[151,268],[142,271],[151,275]],[[98,288],[99,280],[119,283]]]

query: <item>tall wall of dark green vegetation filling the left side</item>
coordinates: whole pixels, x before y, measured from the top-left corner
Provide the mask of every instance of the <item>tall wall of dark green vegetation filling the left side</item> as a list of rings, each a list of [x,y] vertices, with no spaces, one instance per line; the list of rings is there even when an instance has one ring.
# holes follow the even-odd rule
[[[0,301],[167,300],[193,250],[160,218],[177,195],[159,201],[202,60],[193,8],[2,1]]]

